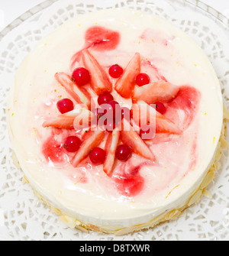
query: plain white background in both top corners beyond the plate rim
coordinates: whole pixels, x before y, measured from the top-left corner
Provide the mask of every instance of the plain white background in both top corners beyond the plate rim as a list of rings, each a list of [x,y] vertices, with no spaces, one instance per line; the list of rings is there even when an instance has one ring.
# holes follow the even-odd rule
[[[96,0],[94,0],[96,1]],[[162,0],[163,1],[163,0]],[[44,0],[0,0],[0,31],[25,11]],[[202,0],[229,18],[229,0]]]

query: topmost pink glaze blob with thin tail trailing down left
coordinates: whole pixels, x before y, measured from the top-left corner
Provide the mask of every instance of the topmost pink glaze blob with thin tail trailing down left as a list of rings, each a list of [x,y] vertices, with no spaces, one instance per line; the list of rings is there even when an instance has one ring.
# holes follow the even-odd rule
[[[118,47],[120,39],[121,36],[118,31],[111,31],[108,28],[93,26],[85,32],[85,45],[83,49],[89,49],[92,47],[94,50],[100,52],[105,50],[114,50],[116,47]],[[76,62],[79,62],[82,50],[79,50],[73,56],[71,65],[72,68],[75,66]]]

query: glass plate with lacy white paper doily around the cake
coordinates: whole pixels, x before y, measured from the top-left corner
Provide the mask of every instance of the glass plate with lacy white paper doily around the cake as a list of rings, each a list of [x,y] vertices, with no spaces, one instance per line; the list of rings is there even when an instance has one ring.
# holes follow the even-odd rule
[[[159,15],[189,34],[211,60],[221,82],[224,105],[229,108],[229,20],[201,1],[47,0],[37,5],[0,33],[0,240],[228,240],[228,150],[224,151],[214,182],[208,186],[209,193],[200,203],[175,221],[121,237],[67,228],[23,183],[23,173],[12,157],[5,118],[15,72],[37,41],[60,24],[104,8],[132,8]]]

